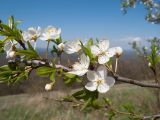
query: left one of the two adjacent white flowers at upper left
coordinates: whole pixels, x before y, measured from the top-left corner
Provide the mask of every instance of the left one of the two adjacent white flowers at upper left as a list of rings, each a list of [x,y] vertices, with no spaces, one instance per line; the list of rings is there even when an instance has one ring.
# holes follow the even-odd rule
[[[41,35],[41,28],[38,26],[37,28],[30,27],[28,31],[24,31],[22,33],[23,39],[25,41],[33,41],[35,42]]]

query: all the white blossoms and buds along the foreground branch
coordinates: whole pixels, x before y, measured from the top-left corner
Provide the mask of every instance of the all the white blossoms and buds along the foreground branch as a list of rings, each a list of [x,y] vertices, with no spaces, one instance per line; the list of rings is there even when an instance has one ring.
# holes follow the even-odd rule
[[[108,40],[100,40],[90,44],[83,44],[80,40],[63,42],[61,40],[61,29],[48,26],[42,30],[40,27],[30,27],[27,31],[22,32],[24,42],[33,42],[34,49],[38,39],[50,43],[53,41],[56,44],[54,52],[60,56],[62,52],[66,54],[77,53],[79,56],[78,62],[75,62],[69,74],[79,77],[87,76],[89,82],[85,88],[89,91],[98,91],[100,93],[107,92],[115,83],[115,79],[107,76],[107,64],[112,57],[118,59],[123,50],[121,47],[109,48]],[[7,53],[7,58],[14,59],[16,56],[16,44],[14,41],[7,41],[4,45],[4,50]],[[48,50],[48,49],[47,49]],[[48,54],[47,54],[48,55]],[[93,68],[91,66],[94,66]],[[91,69],[92,68],[92,69]],[[117,69],[117,68],[116,68]],[[116,70],[115,70],[116,71]],[[53,83],[45,86],[46,90],[51,90]]]

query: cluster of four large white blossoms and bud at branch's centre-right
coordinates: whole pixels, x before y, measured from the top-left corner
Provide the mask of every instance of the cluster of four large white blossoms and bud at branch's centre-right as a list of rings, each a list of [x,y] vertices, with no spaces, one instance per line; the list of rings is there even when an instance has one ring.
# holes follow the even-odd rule
[[[90,58],[82,50],[80,41],[68,42],[64,45],[64,51],[67,54],[81,53],[79,62],[72,65],[72,70],[68,73],[83,76],[87,74],[90,81],[85,88],[89,91],[97,90],[99,93],[107,92],[115,83],[115,79],[107,76],[107,68],[105,67],[110,58],[116,56],[119,58],[123,52],[121,47],[109,48],[108,40],[101,40],[95,45],[91,45],[88,49],[91,50],[93,59],[97,61],[97,71],[90,70]],[[80,52],[82,50],[82,52]]]

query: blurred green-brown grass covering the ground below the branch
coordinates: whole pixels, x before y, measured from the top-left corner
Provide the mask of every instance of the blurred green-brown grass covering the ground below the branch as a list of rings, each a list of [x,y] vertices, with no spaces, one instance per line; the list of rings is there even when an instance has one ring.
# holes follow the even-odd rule
[[[20,94],[0,97],[0,120],[107,120],[105,112],[80,112],[70,104],[53,99],[66,95],[64,92]],[[139,114],[156,114],[158,108],[152,89],[132,85],[115,85],[105,94],[114,107],[123,110],[121,105],[135,106]],[[44,97],[52,99],[44,99]],[[128,120],[120,116],[116,120]]]

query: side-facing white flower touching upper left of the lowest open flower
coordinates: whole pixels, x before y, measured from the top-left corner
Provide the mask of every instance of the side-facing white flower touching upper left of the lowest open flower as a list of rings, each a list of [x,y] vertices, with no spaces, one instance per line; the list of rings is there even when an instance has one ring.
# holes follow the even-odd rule
[[[83,76],[88,71],[89,63],[90,63],[89,57],[86,56],[85,54],[82,54],[80,56],[79,62],[73,64],[72,66],[73,69],[68,73],[75,74],[78,76]]]

